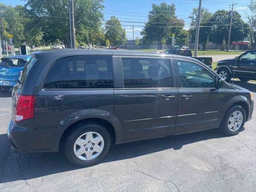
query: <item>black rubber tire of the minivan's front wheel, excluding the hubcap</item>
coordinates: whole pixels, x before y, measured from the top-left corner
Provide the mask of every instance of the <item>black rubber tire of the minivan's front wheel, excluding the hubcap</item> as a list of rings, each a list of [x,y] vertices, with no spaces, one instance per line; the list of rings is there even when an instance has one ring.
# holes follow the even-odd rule
[[[240,126],[240,128],[236,131],[231,131],[229,128],[228,128],[228,119],[230,118],[231,114],[235,111],[240,111],[243,115],[243,121],[242,121],[242,125]],[[224,115],[223,119],[222,119],[222,122],[221,122],[221,125],[220,125],[220,130],[222,133],[226,134],[227,136],[233,136],[233,135],[236,135],[238,134],[238,132],[240,132],[242,130],[242,128],[244,127],[244,123],[245,123],[245,120],[246,120],[246,113],[244,111],[244,108],[240,105],[235,105],[233,107],[231,107],[227,112],[226,114]]]

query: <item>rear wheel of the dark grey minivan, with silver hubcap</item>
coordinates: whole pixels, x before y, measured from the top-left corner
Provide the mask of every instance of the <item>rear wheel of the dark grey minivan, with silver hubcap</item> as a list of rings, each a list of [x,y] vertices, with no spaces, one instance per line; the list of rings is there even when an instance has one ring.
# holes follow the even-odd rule
[[[101,124],[76,126],[64,142],[66,158],[78,166],[92,166],[100,162],[110,149],[111,138]]]

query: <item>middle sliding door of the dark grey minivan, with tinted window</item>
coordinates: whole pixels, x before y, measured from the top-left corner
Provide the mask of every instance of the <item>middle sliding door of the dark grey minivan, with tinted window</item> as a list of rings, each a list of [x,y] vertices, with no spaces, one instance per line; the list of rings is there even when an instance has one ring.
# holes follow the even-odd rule
[[[125,139],[173,133],[178,106],[170,58],[122,57],[122,88],[114,88],[114,112]],[[115,63],[115,62],[114,62]],[[114,83],[115,84],[115,83]]]

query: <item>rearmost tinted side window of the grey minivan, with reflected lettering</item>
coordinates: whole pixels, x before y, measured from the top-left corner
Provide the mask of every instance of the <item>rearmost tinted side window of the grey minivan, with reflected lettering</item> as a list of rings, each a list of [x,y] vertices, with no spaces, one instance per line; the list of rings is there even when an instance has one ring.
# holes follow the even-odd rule
[[[43,88],[113,88],[113,85],[111,56],[72,56],[54,63]]]

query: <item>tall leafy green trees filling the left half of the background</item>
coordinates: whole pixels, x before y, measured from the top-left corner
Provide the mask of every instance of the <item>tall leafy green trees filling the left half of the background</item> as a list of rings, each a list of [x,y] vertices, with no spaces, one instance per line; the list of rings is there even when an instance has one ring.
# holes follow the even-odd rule
[[[74,1],[77,46],[122,44],[125,30],[115,16],[103,23],[102,2],[103,0]],[[71,47],[68,0],[27,0],[24,6],[15,7],[0,4],[0,11],[3,36],[13,34],[15,46],[26,42],[29,46],[37,47],[44,41],[48,45],[62,42],[67,48]]]

